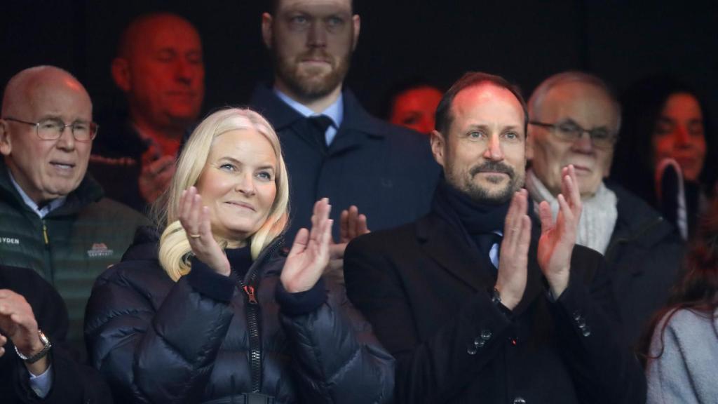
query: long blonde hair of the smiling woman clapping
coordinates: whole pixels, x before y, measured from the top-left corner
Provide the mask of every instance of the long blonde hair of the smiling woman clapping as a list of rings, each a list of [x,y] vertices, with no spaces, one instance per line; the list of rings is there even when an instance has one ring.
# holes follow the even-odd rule
[[[191,269],[192,248],[179,220],[182,191],[197,184],[202,170],[205,169],[214,139],[220,134],[243,129],[253,129],[264,135],[269,140],[277,161],[274,203],[264,224],[248,239],[253,259],[256,259],[264,247],[284,232],[289,221],[289,176],[281,155],[279,137],[271,124],[251,109],[230,108],[211,114],[192,132],[177,160],[177,170],[169,189],[153,206],[158,226],[164,227],[162,237],[159,239],[159,263],[174,281],[187,275]],[[223,249],[228,242],[233,241],[220,239],[217,236],[215,239]]]

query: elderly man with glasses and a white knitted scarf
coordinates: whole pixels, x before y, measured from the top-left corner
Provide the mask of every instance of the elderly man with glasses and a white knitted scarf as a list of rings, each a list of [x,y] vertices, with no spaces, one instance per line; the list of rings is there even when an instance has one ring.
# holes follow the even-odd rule
[[[594,75],[565,72],[541,83],[528,101],[526,188],[536,208],[559,211],[561,169],[574,165],[583,203],[577,244],[605,255],[627,341],[635,344],[663,306],[679,270],[676,229],[657,211],[605,180],[620,127],[620,104]],[[635,150],[636,153],[648,152]]]

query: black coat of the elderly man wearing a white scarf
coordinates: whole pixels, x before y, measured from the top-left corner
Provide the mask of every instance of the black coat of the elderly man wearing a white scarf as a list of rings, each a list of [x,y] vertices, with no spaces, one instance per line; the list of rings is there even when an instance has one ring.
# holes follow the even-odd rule
[[[636,344],[653,313],[666,305],[678,280],[684,244],[658,211],[620,185],[607,182],[618,199],[618,217],[606,249],[623,332]]]

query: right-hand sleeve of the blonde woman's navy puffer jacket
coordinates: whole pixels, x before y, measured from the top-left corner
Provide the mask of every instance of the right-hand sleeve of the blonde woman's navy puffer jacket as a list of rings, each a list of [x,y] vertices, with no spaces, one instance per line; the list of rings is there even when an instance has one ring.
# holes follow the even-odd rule
[[[393,357],[353,308],[343,286],[330,279],[317,283],[321,288],[325,285],[327,298],[314,311],[281,311],[304,402],[391,402]]]

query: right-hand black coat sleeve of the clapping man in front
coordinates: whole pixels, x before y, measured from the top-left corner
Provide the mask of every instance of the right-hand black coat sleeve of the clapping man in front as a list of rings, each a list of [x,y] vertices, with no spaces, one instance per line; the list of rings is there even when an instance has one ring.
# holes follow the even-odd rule
[[[582,403],[645,403],[645,376],[623,336],[605,260],[579,248],[586,259],[572,265],[595,265],[590,271],[572,267],[569,286],[551,305],[564,363]],[[591,256],[594,257],[591,257]],[[594,274],[585,279],[587,273]]]

